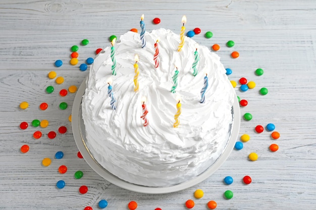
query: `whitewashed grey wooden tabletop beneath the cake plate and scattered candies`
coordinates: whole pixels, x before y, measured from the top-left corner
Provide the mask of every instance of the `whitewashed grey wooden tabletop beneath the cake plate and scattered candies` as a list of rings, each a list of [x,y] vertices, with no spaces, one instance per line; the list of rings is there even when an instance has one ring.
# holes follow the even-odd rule
[[[131,200],[138,202],[137,209],[186,209],[187,199],[195,200],[195,208],[207,209],[206,203],[215,200],[217,209],[314,209],[316,205],[316,3],[314,0],[280,1],[11,1],[0,3],[0,209],[84,209],[106,199],[106,209],[128,209]],[[217,43],[217,52],[226,68],[233,74],[230,80],[238,82],[245,77],[256,87],[236,92],[248,106],[241,114],[249,112],[253,119],[241,119],[240,134],[251,136],[240,151],[234,150],[224,165],[202,183],[170,194],[141,194],[121,189],[97,175],[77,157],[71,122],[72,102],[75,94],[61,97],[59,91],[71,85],[77,87],[87,76],[79,64],[95,56],[95,49],[110,46],[109,37],[121,35],[131,28],[138,28],[140,16],[145,14],[147,31],[168,28],[180,33],[182,15],[187,16],[187,31],[196,27],[201,34],[193,39],[209,48]],[[153,18],[161,23],[154,25]],[[206,31],[214,36],[206,39]],[[90,43],[81,46],[88,39]],[[226,46],[234,40],[235,46]],[[70,65],[70,47],[79,46],[79,64]],[[230,57],[232,51],[240,57]],[[57,68],[54,62],[62,59]],[[256,76],[256,68],[264,69]],[[64,77],[61,85],[50,80],[47,74],[56,71]],[[47,94],[47,86],[55,92]],[[266,87],[265,96],[259,90]],[[21,110],[22,101],[29,108]],[[59,109],[61,102],[68,103],[66,110]],[[39,105],[48,104],[41,111]],[[33,119],[47,119],[46,128],[33,127]],[[20,129],[26,121],[29,127]],[[256,133],[258,124],[274,123],[281,137],[273,140],[271,132]],[[49,139],[47,133],[66,126],[65,134]],[[40,130],[43,136],[33,138]],[[238,139],[239,141],[239,139]],[[271,144],[278,144],[279,151],[269,151]],[[20,152],[22,145],[30,150]],[[63,159],[55,153],[64,152]],[[247,156],[256,152],[255,162]],[[48,167],[41,165],[49,157]],[[68,172],[60,174],[58,167],[66,165]],[[81,179],[74,173],[83,171]],[[249,175],[252,183],[245,185],[242,178]],[[232,176],[234,183],[226,185],[223,179]],[[57,189],[58,180],[65,180],[66,187]],[[88,186],[80,194],[81,185]],[[204,196],[195,199],[193,192],[202,189]],[[234,197],[225,199],[223,193],[232,190]]]

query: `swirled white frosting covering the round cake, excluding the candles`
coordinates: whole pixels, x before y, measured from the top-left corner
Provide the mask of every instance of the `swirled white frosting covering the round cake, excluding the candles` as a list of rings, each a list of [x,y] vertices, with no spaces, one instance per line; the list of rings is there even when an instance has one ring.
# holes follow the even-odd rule
[[[154,43],[159,38],[159,67],[154,68]],[[86,144],[95,160],[109,172],[131,183],[171,186],[193,178],[219,158],[228,142],[234,92],[220,58],[205,46],[170,30],[146,32],[141,48],[138,33],[127,32],[115,45],[117,75],[112,76],[111,47],[97,55],[90,68],[82,100]],[[198,74],[192,76],[198,48]],[[134,92],[134,57],[138,54],[139,91]],[[171,93],[175,64],[179,70],[176,93]],[[207,71],[205,103],[199,103]],[[113,79],[117,109],[111,109],[108,79]],[[147,98],[143,126],[141,98]],[[181,98],[180,125],[173,127]]]

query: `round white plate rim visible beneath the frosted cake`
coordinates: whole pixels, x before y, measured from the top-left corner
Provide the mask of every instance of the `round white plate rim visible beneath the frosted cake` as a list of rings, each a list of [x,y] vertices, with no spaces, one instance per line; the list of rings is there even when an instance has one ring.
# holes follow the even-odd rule
[[[212,175],[226,161],[226,159],[228,158],[228,156],[230,155],[230,153],[232,152],[235,146],[236,139],[239,132],[239,127],[240,127],[240,108],[239,108],[239,103],[238,103],[236,94],[235,94],[235,101],[232,106],[233,122],[231,126],[231,131],[230,131],[230,139],[228,139],[228,143],[225,147],[225,150],[212,166],[210,166],[202,174],[198,175],[197,177],[191,180],[188,180],[188,181],[185,181],[173,186],[169,186],[169,187],[147,187],[147,186],[142,186],[142,185],[126,182],[118,178],[117,176],[111,174],[106,169],[104,169],[93,158],[92,154],[90,153],[89,149],[86,146],[85,126],[83,123],[82,112],[81,112],[81,101],[82,101],[82,96],[85,92],[85,89],[86,89],[86,80],[84,80],[82,84],[80,85],[78,92],[76,94],[75,100],[74,100],[73,108],[72,108],[72,129],[73,129],[75,142],[77,144],[77,147],[81,155],[85,159],[85,161],[96,173],[98,173],[101,177],[103,177],[107,181],[119,187],[122,187],[124,189],[128,189],[135,192],[141,192],[141,193],[160,194],[160,193],[176,192],[176,191],[189,188],[205,180],[210,175]],[[232,91],[234,91],[233,88],[232,88]]]

